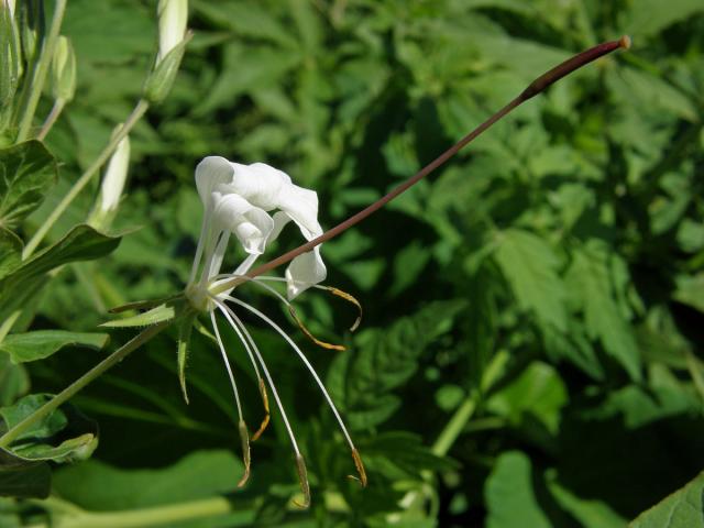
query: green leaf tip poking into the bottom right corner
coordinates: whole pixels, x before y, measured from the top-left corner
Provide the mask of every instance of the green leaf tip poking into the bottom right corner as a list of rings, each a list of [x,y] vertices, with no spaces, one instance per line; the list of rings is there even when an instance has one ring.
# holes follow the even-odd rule
[[[704,527],[704,472],[692,482],[640,514],[630,528]]]

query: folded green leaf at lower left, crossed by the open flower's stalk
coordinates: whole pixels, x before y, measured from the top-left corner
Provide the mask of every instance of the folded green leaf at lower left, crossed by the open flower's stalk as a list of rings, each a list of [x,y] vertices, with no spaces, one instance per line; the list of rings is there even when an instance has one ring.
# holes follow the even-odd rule
[[[51,394],[30,394],[16,404],[0,408],[4,432],[46,404]],[[25,430],[9,451],[23,460],[75,462],[89,458],[98,447],[98,426],[74,406],[64,405]]]

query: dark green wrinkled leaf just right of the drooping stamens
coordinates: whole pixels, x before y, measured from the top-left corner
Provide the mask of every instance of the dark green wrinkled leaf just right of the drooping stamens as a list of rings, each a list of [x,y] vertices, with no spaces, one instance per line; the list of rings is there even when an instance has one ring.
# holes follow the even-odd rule
[[[386,330],[365,332],[354,355],[338,355],[328,388],[352,429],[377,426],[396,411],[402,400],[391,391],[414,375],[420,354],[452,328],[464,306],[462,300],[431,302]]]

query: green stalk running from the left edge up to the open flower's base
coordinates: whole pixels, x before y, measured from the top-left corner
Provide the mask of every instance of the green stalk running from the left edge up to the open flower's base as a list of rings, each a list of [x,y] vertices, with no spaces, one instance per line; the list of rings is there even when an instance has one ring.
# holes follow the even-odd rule
[[[59,405],[67,402],[72,396],[78,393],[81,388],[92,382],[96,377],[100,376],[109,369],[117,365],[124,358],[127,358],[131,352],[139,349],[143,343],[147,342],[150,339],[154,338],[157,333],[163,331],[170,321],[160,322],[158,324],[154,324],[153,327],[148,327],[143,330],[141,333],[132,338],[125,344],[116,350],[108,358],[102,360],[96,366],[94,366],[86,374],[80,376],[74,383],[72,383],[64,391],[54,396],[50,402],[44,404],[42,407],[36,409],[30,416],[20,421],[16,426],[6,432],[2,437],[0,437],[0,448],[8,448],[10,443],[16,440],[24,431],[26,431],[30,427],[32,427],[36,421],[47,416],[50,413],[55,410]]]

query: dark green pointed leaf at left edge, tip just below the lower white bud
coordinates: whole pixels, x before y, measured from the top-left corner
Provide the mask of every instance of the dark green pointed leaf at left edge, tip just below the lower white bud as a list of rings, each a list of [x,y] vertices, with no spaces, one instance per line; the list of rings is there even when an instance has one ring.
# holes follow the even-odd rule
[[[70,262],[105,256],[119,244],[119,237],[108,237],[90,226],[76,226],[62,240],[36,253],[0,280],[0,319],[22,308],[41,289],[47,272]]]

